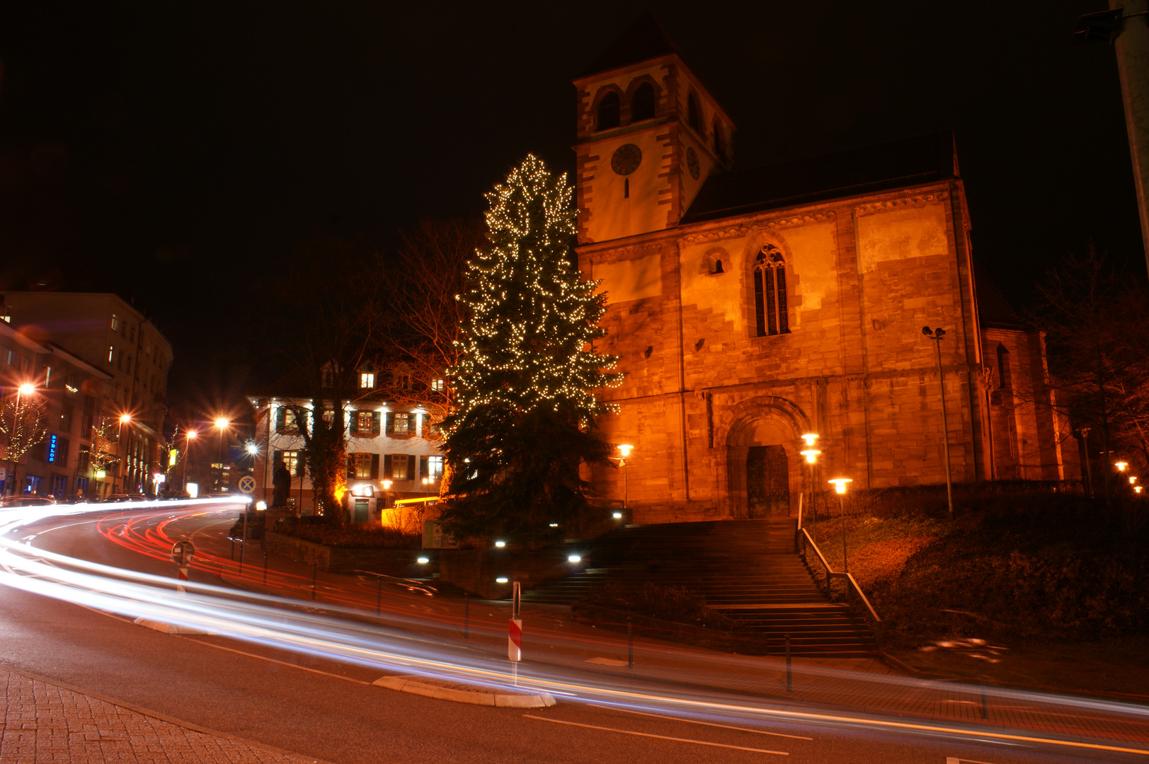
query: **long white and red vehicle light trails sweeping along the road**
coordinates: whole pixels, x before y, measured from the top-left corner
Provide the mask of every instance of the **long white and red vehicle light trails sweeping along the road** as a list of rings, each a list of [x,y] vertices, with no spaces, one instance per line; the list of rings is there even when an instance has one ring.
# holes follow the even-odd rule
[[[341,604],[332,604],[325,593],[325,612],[304,612],[309,603],[255,592],[187,581],[186,595],[175,592],[176,580],[170,577],[144,573],[100,563],[93,563],[67,555],[52,553],[32,546],[37,523],[63,518],[99,515],[93,518],[99,532],[107,539],[155,560],[168,561],[165,548],[170,549],[168,526],[177,519],[193,515],[214,515],[233,511],[234,500],[199,500],[192,502],[132,502],[115,506],[56,504],[45,507],[21,507],[0,510],[0,584],[44,596],[74,602],[97,610],[121,613],[132,618],[177,624],[208,633],[221,634],[250,643],[304,653],[337,662],[370,666],[379,671],[414,673],[432,678],[447,678],[489,688],[512,689],[508,664],[494,654],[479,650],[462,650],[462,646],[449,645],[446,633],[429,633],[457,626],[461,620],[445,612],[423,612],[415,608],[390,605],[387,624],[365,622],[363,608],[373,607],[373,597],[358,593],[341,595]],[[157,523],[156,527],[147,526]],[[23,535],[21,532],[23,531]],[[164,546],[167,545],[167,547]],[[210,553],[198,551],[195,566],[217,573],[234,574],[234,563]],[[262,573],[262,571],[260,571]],[[302,577],[280,576],[283,586],[299,588]],[[253,577],[254,578],[254,577]],[[309,581],[306,588],[309,591]],[[367,595],[364,589],[362,594]],[[408,602],[415,602],[412,596]],[[357,605],[357,608],[356,608]],[[479,626],[479,624],[476,624]],[[492,635],[502,634],[502,623],[488,620],[481,626]],[[543,633],[546,630],[534,630]],[[557,641],[570,634],[550,632]],[[452,634],[454,635],[454,634]],[[585,645],[585,640],[566,639],[566,643]],[[596,647],[601,648],[601,641]],[[655,646],[650,646],[654,651]],[[670,648],[657,648],[670,654]],[[677,655],[699,658],[702,667],[717,672],[720,667],[735,671],[740,666],[754,665],[762,671],[763,662],[750,663],[740,656],[714,656],[701,650],[677,650]],[[702,659],[702,658],[705,659]],[[858,674],[825,667],[803,667],[808,677],[858,681]],[[1024,708],[1023,713],[1039,713],[1047,718],[1061,719],[1047,724],[1048,736],[1038,734],[1013,734],[986,728],[971,723],[970,727],[955,723],[942,723],[930,718],[921,720],[896,719],[877,713],[849,713],[845,711],[812,711],[810,705],[795,708],[785,702],[762,699],[749,701],[745,696],[709,690],[703,687],[674,687],[660,685],[654,679],[620,674],[617,679],[609,674],[593,673],[591,679],[579,679],[578,671],[570,666],[548,665],[542,662],[525,664],[519,669],[519,689],[549,692],[554,695],[577,699],[581,702],[597,702],[610,707],[634,711],[662,711],[679,717],[697,717],[716,723],[789,723],[848,725],[871,730],[904,731],[971,739],[992,739],[1027,743],[1072,747],[1084,750],[1112,751],[1149,755],[1149,709],[1111,701],[1080,697],[1061,697],[1021,690],[994,688],[995,702],[1010,701]],[[903,693],[936,690],[938,682],[890,676],[866,676],[865,681],[874,685],[871,696],[888,694],[893,689]],[[701,682],[700,682],[701,684]],[[645,686],[647,689],[637,689]],[[980,688],[948,686],[954,693],[973,696]],[[864,700],[864,699],[863,699]],[[1081,725],[1072,725],[1074,719],[1096,718],[1106,724],[1111,736],[1116,725],[1126,725],[1126,733],[1119,739],[1140,743],[1142,747],[1116,746],[1080,740]],[[957,720],[955,720],[957,721]],[[1057,734],[1078,739],[1057,738]],[[1092,733],[1089,736],[1101,736]]]

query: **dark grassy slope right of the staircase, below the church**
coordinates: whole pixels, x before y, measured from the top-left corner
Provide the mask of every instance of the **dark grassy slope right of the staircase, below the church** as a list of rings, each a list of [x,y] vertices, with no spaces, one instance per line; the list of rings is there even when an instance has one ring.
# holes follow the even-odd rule
[[[807,523],[841,570],[840,517]],[[849,569],[916,667],[977,677],[978,638],[1008,648],[1002,684],[1139,695],[1149,686],[1149,534],[1072,496],[1010,496],[944,515],[848,516]],[[1119,661],[1118,663],[1113,663]]]

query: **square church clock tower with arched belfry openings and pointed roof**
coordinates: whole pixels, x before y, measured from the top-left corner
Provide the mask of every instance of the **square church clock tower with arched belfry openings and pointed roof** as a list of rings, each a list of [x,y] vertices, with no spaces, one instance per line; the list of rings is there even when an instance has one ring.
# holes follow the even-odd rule
[[[678,225],[734,123],[649,11],[574,79],[580,245]]]

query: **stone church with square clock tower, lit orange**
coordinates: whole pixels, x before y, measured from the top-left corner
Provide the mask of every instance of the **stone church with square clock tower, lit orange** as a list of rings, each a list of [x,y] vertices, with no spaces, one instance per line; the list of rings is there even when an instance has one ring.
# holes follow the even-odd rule
[[[735,168],[735,125],[649,15],[574,80],[578,262],[637,523],[792,515],[812,480],[1079,479],[1043,338],[974,275],[950,132]],[[982,292],[992,291],[979,304]],[[626,485],[624,487],[624,480]]]

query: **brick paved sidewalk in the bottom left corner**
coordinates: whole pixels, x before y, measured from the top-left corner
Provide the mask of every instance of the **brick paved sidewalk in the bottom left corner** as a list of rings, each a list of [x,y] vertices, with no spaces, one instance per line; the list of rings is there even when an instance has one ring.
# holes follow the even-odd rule
[[[0,669],[0,764],[319,764]]]

